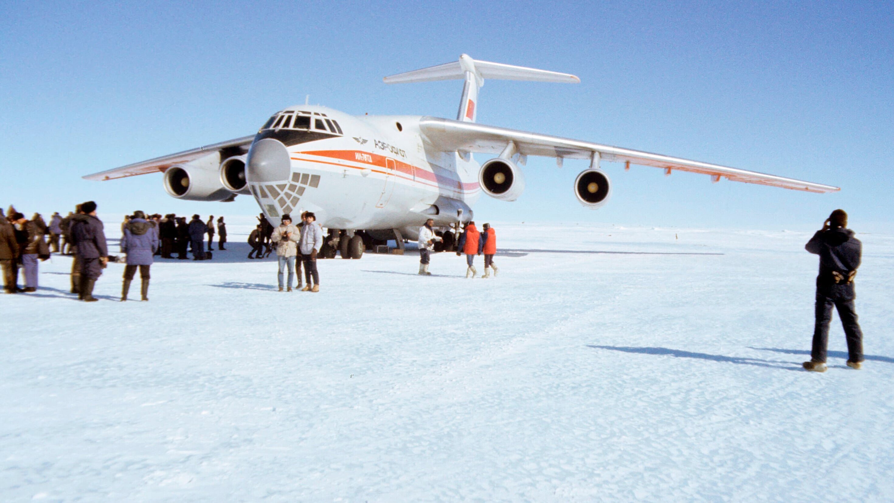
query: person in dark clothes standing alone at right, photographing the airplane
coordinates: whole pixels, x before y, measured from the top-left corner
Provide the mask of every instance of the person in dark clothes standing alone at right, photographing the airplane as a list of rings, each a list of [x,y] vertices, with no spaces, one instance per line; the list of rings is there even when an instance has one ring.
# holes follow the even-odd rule
[[[863,331],[857,323],[854,308],[854,277],[863,255],[863,244],[848,229],[848,214],[835,210],[807,241],[805,249],[820,256],[820,273],[816,277],[816,305],[814,343],[810,361],[804,368],[813,372],[825,372],[826,348],[829,344],[829,323],[832,306],[838,309],[845,339],[848,341],[848,366],[863,366]]]

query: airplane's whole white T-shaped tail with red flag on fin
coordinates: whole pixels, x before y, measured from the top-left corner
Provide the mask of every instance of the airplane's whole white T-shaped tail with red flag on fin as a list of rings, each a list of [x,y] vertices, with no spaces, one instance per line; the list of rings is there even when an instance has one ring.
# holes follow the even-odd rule
[[[407,71],[385,77],[384,82],[386,84],[400,84],[403,82],[459,79],[466,80],[466,84],[462,88],[460,112],[456,116],[456,120],[462,122],[475,122],[478,89],[485,85],[485,79],[531,80],[536,82],[564,82],[568,84],[580,82],[580,79],[569,73],[537,70],[536,68],[491,63],[489,61],[477,61],[469,57],[468,54],[460,55],[460,61],[453,63],[439,64],[423,68],[422,70]]]

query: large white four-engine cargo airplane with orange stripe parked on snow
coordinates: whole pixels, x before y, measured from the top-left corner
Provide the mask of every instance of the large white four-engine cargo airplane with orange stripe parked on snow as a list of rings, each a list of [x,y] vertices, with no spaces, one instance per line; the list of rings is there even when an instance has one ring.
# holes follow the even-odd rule
[[[324,106],[295,105],[274,113],[257,134],[85,176],[113,180],[164,173],[164,189],[194,201],[232,201],[250,195],[268,221],[312,211],[328,229],[323,256],[359,258],[376,239],[413,237],[426,219],[457,226],[472,218],[481,193],[514,201],[525,189],[519,166],[528,155],[586,159],[574,195],[588,208],[604,205],[611,181],[600,163],[654,166],[709,175],[713,181],[770,185],[809,192],[836,187],[650,154],[576,139],[486,126],[476,122],[485,79],[578,83],[574,75],[502,63],[459,61],[385,77],[388,84],[465,80],[456,120],[417,115],[354,116]],[[491,158],[477,163],[473,154]],[[453,240],[445,232],[445,245]]]

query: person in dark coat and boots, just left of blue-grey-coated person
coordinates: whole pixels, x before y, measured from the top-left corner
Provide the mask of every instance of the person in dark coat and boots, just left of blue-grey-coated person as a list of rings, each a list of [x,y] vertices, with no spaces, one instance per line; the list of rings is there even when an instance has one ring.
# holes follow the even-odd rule
[[[80,214],[72,217],[72,242],[80,263],[80,289],[78,298],[96,302],[93,287],[108,264],[108,247],[105,245],[103,222],[97,218],[97,204],[88,201],[80,205]]]

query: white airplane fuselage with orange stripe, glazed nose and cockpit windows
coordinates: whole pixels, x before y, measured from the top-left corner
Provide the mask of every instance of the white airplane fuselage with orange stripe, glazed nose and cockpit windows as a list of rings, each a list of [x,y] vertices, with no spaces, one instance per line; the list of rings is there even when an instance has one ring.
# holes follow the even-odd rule
[[[471,155],[426,145],[420,118],[289,107],[252,142],[249,190],[277,224],[283,214],[304,211],[324,227],[345,230],[409,232],[427,218],[439,225],[468,221],[481,195],[480,166]]]

